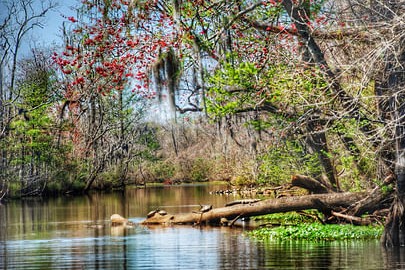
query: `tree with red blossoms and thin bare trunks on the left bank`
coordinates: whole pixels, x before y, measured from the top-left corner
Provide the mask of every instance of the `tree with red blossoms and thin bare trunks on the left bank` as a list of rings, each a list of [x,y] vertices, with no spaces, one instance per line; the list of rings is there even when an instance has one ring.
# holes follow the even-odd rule
[[[172,20],[154,6],[83,1],[78,18],[67,18],[65,49],[53,58],[65,79],[61,114],[71,121],[76,156],[88,162],[85,190],[114,162],[124,183],[135,151],[129,127],[139,121],[142,99],[156,95],[149,91],[152,63],[177,46]]]

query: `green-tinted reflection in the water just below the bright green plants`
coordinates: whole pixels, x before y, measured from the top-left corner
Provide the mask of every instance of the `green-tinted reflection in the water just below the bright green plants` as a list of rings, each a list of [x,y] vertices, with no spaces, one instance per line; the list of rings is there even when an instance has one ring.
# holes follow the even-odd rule
[[[255,243],[260,269],[381,269],[381,246],[375,241]],[[371,256],[370,256],[371,255]]]

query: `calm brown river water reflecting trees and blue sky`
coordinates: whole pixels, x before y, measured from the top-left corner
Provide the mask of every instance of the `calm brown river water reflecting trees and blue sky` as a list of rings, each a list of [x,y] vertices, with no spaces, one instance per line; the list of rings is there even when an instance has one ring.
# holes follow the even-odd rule
[[[171,213],[223,206],[235,195],[209,185],[128,189],[0,205],[0,269],[405,269],[405,250],[378,241],[277,242],[236,229],[142,226],[157,207]],[[136,223],[111,227],[118,213]]]

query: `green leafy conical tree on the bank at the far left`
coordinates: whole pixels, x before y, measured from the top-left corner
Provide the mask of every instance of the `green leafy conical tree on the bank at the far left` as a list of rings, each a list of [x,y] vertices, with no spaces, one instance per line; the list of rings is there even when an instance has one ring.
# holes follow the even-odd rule
[[[69,146],[57,141],[54,74],[40,64],[42,60],[22,61],[24,73],[16,84],[15,117],[9,123],[8,136],[0,141],[7,159],[2,176],[7,176],[10,196],[53,192],[63,186],[56,179],[69,163]]]

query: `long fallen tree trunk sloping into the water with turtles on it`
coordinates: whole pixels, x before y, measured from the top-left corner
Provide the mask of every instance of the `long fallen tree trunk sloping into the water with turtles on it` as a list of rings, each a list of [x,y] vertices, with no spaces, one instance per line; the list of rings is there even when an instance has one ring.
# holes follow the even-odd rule
[[[324,207],[349,207],[366,197],[366,193],[330,193],[312,194],[295,197],[267,199],[250,204],[236,204],[232,206],[213,208],[204,213],[166,214],[156,213],[146,218],[142,224],[212,224],[218,225],[221,219],[235,220],[236,218],[261,216],[272,213],[318,209]],[[321,202],[321,203],[320,203]],[[331,209],[332,211],[333,209]]]

